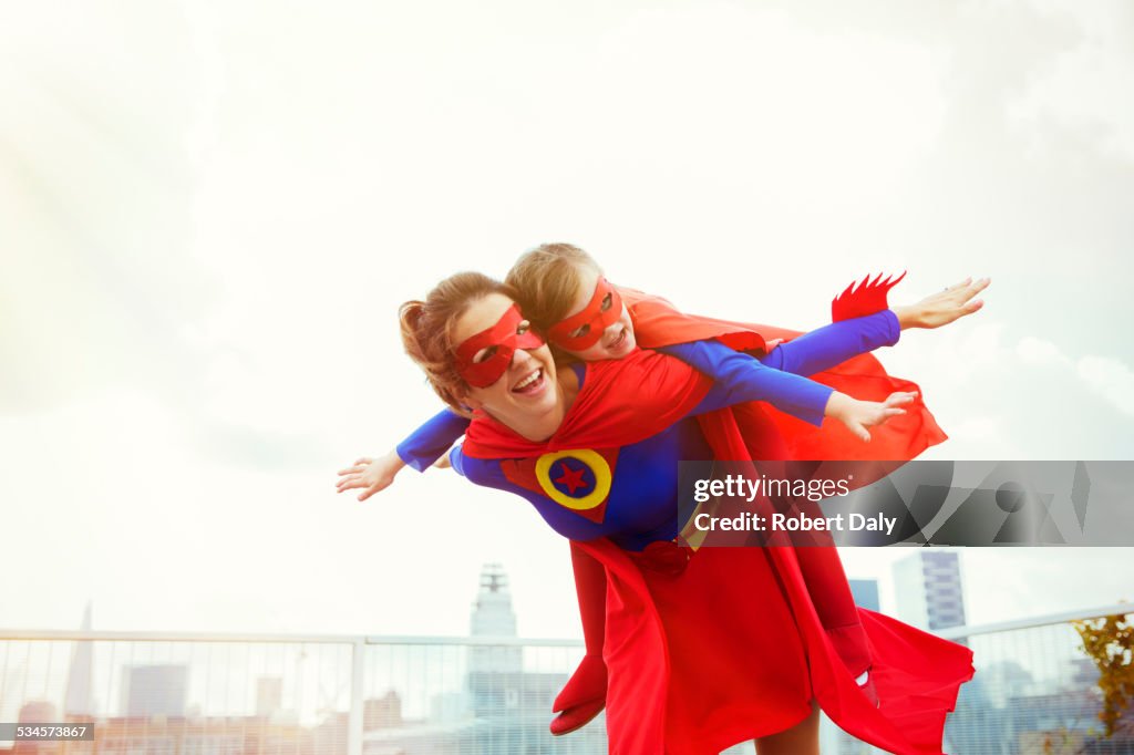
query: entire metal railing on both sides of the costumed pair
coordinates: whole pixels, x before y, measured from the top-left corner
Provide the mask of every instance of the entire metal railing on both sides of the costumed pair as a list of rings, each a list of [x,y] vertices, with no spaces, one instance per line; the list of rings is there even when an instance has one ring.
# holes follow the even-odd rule
[[[947,752],[1082,750],[1098,728],[1098,672],[1068,622],[1128,612],[939,631],[973,647],[978,668]],[[582,652],[575,639],[515,637],[0,630],[0,721],[95,722],[94,743],[41,745],[44,755],[602,753],[601,720],[547,733]],[[822,737],[824,753],[877,752],[827,721]]]

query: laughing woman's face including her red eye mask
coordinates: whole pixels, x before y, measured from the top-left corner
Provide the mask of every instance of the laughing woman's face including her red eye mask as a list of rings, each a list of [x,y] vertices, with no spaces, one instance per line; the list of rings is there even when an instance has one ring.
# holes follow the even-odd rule
[[[452,332],[458,368],[466,382],[479,384],[462,401],[514,430],[555,412],[561,398],[551,349],[527,333],[528,323],[513,311],[515,304],[489,294],[468,305]]]

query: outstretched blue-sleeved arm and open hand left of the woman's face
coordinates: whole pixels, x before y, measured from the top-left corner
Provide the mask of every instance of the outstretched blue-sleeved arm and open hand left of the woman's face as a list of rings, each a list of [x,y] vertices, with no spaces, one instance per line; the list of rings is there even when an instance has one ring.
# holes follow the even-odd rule
[[[442,409],[386,456],[376,459],[363,457],[354,466],[340,469],[338,492],[363,489],[358,500],[365,501],[393,484],[403,467],[425,470],[443,458],[445,452],[465,434],[468,422],[455,412]]]

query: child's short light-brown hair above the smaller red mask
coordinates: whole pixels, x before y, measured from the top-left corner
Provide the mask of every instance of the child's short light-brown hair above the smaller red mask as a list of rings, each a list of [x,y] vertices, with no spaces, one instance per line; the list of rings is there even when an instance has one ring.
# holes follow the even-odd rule
[[[541,244],[516,261],[505,283],[515,290],[524,316],[547,333],[570,312],[578,295],[581,268],[602,274],[594,257],[577,246]]]

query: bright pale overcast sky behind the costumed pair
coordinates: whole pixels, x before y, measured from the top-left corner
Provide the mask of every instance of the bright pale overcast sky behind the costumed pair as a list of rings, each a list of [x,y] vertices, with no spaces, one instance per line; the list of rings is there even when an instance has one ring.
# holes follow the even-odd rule
[[[6,3],[0,627],[465,634],[500,561],[577,634],[519,498],[333,487],[438,407],[397,305],[542,241],[798,329],[991,275],[881,355],[933,456],[1131,459],[1132,85],[1123,0]],[[978,622],[1134,597],[1129,549],[963,563]]]

